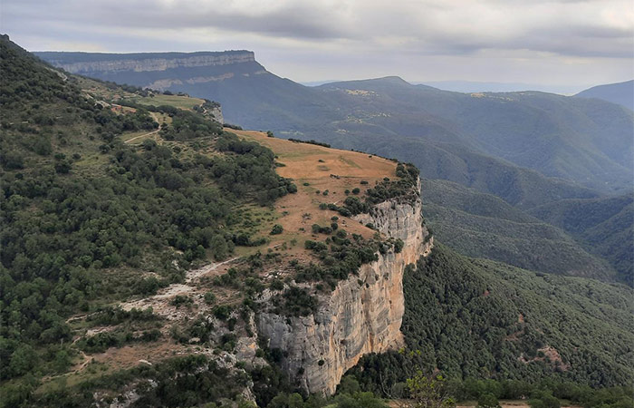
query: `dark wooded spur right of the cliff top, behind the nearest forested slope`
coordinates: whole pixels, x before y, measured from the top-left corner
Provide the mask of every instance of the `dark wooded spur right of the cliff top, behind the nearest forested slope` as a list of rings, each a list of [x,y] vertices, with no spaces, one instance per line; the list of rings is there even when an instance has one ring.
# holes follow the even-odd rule
[[[560,275],[614,280],[605,260],[562,229],[502,199],[446,180],[423,180],[424,215],[435,236],[469,257]]]

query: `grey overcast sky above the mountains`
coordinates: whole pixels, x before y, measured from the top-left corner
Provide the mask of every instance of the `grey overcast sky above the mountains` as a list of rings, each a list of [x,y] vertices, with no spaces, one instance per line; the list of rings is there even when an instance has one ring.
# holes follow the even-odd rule
[[[297,82],[634,77],[632,0],[0,0],[0,31],[30,51],[247,49]]]

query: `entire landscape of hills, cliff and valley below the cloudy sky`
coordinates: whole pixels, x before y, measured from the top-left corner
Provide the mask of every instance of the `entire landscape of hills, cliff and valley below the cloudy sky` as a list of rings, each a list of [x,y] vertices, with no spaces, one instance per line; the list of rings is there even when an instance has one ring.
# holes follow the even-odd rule
[[[0,47],[0,406],[631,402],[630,112]]]

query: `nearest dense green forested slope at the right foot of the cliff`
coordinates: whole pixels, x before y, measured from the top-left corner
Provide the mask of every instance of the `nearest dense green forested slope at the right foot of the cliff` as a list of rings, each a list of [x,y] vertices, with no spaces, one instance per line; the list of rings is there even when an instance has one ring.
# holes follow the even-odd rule
[[[365,357],[351,374],[379,393],[421,366],[450,378],[629,384],[632,290],[436,246],[405,273],[407,349]]]

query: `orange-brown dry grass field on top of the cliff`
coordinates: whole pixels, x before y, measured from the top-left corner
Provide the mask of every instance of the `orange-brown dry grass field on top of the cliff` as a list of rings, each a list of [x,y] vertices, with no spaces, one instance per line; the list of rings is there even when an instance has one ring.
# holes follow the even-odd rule
[[[261,231],[263,235],[274,224],[283,226],[283,234],[270,236],[269,248],[279,249],[285,243],[288,248],[286,253],[300,255],[303,252],[303,242],[315,238],[312,224],[328,226],[332,217],[339,217],[340,227],[350,233],[360,234],[364,238],[371,238],[375,234],[373,229],[341,217],[336,211],[319,209],[319,205],[341,205],[347,197],[345,191],[355,188],[360,189],[359,197],[362,198],[365,189],[374,186],[376,182],[385,177],[396,177],[396,162],[367,153],[269,138],[260,131],[226,131],[257,141],[274,151],[277,162],[283,165],[277,168],[277,173],[293,179],[297,185],[296,194],[289,194],[275,201],[277,219],[273,223],[264,224]],[[361,181],[367,181],[368,184],[361,184]]]

